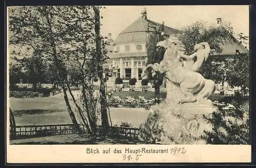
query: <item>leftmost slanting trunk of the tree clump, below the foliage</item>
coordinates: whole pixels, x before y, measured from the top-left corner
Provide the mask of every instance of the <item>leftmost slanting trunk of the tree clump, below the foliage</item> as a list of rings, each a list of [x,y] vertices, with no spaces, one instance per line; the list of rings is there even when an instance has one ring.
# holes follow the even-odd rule
[[[76,121],[76,117],[75,117],[75,114],[74,112],[72,111],[71,109],[71,106],[70,106],[70,103],[69,103],[69,99],[68,99],[68,95],[67,95],[67,90],[65,88],[65,85],[62,84],[62,89],[63,89],[63,94],[64,94],[64,99],[65,99],[65,102],[66,102],[66,106],[68,108],[68,112],[69,112],[69,115],[70,115],[70,118],[71,118],[71,121],[74,125],[74,129],[78,131],[79,134],[82,133],[82,130],[81,128],[79,127],[77,121]]]

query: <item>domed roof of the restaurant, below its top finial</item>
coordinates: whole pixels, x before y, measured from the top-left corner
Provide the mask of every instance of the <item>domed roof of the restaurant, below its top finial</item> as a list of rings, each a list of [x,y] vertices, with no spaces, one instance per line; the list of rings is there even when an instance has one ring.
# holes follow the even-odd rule
[[[143,17],[139,17],[135,20],[129,27],[124,29],[116,38],[116,43],[123,42],[132,42],[132,41],[145,41],[147,30],[149,32],[155,32],[153,28],[148,27],[156,27],[159,28],[161,26],[160,23],[145,19]],[[177,29],[169,28],[164,26],[164,32],[173,35],[178,34],[179,31]]]

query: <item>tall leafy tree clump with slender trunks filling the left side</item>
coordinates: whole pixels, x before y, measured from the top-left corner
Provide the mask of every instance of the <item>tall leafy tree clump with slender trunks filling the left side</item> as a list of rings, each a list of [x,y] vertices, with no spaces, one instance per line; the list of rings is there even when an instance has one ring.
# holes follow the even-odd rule
[[[102,62],[108,58],[105,50],[108,42],[99,36],[100,16],[98,10],[96,17],[95,8],[101,9],[92,6],[14,7],[10,8],[9,19],[10,44],[27,50],[31,48],[33,54],[48,63],[51,62],[52,66],[49,66],[48,70],[52,76],[48,77],[48,80],[61,85],[74,126],[78,128],[67,92],[70,93],[83,124],[93,134],[96,133],[97,111],[93,78],[101,74]],[[96,27],[98,30],[95,33]],[[77,75],[75,70],[78,70]],[[82,86],[80,104],[70,89],[74,80]],[[102,99],[105,94],[104,90],[101,91]],[[100,103],[104,104],[102,101]],[[83,110],[86,113],[83,113]],[[102,122],[108,121],[106,108],[104,111]]]

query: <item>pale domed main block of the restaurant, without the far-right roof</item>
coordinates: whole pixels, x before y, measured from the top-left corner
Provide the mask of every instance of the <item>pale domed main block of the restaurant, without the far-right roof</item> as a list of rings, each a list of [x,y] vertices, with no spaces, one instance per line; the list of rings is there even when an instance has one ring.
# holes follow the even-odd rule
[[[116,53],[110,55],[110,60],[106,62],[108,65],[105,67],[116,69],[112,78],[122,78],[123,87],[130,87],[129,80],[132,78],[137,79],[135,87],[141,87],[142,71],[147,64],[146,36],[148,32],[158,31],[152,27],[157,29],[161,27],[158,32],[160,34],[165,32],[169,36],[175,36],[179,33],[177,29],[165,26],[164,22],[157,23],[147,19],[144,10],[141,16],[124,29],[114,41],[113,50]]]

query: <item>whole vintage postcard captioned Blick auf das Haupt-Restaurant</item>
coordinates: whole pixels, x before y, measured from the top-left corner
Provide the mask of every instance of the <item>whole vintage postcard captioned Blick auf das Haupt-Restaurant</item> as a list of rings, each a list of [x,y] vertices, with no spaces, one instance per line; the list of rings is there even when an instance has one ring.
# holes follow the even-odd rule
[[[249,8],[7,7],[7,163],[250,162]]]

